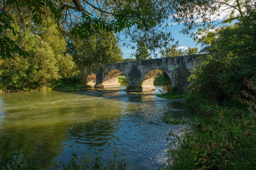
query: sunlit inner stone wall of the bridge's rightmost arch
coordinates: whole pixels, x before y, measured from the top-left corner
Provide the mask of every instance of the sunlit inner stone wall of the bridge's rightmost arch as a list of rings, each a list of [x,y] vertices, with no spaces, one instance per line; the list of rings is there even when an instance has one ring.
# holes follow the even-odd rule
[[[149,72],[147,72],[144,75],[144,77],[142,79],[142,89],[143,89],[143,91],[152,91],[152,90],[155,89],[154,80],[160,72],[164,72],[164,71],[161,70],[161,69],[151,69]],[[171,80],[170,76],[169,76],[169,79]]]

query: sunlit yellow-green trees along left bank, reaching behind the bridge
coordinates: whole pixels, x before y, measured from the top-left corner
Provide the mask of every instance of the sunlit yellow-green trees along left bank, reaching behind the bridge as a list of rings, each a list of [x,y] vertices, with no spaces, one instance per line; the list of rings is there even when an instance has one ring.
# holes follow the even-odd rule
[[[26,57],[15,53],[2,58],[1,91],[75,88],[76,84],[85,84],[80,78],[85,66],[122,61],[122,52],[111,32],[101,31],[87,40],[70,40],[49,16],[41,16],[41,24],[32,29],[33,19],[19,15],[13,16],[11,26],[16,31],[18,26],[23,27],[22,33],[7,32],[6,36],[22,45]]]

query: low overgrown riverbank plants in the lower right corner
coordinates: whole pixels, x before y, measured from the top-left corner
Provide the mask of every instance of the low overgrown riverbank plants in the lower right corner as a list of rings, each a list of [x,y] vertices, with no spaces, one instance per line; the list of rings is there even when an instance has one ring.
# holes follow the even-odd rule
[[[166,169],[255,169],[255,118],[238,108],[204,106],[194,132],[176,138]]]

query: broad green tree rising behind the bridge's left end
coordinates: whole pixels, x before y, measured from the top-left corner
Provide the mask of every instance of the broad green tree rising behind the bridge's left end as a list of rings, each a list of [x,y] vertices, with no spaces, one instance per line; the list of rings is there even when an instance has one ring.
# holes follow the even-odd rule
[[[93,65],[122,62],[122,50],[111,32],[102,31],[85,40],[76,38],[70,47],[73,48],[75,62],[82,70]]]

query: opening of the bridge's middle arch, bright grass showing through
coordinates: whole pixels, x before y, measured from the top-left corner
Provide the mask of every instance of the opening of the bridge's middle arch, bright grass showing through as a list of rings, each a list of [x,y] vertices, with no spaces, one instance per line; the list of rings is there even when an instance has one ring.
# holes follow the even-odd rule
[[[114,88],[114,87],[119,87],[120,85],[127,86],[127,84],[128,84],[128,81],[126,77],[118,69],[113,69],[110,72],[108,72],[105,75],[102,82],[102,85],[105,88],[112,88],[112,87]]]

